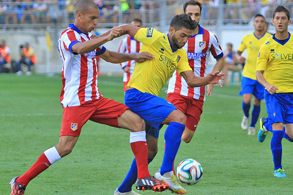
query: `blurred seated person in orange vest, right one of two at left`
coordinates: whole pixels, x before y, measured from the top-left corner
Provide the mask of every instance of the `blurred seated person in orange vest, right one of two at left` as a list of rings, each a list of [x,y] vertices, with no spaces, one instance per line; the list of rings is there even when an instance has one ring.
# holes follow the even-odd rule
[[[25,41],[24,46],[20,46],[20,55],[21,58],[16,60],[18,72],[17,75],[21,75],[21,63],[25,64],[27,66],[27,72],[26,75],[31,75],[31,65],[34,65],[37,63],[37,57],[35,55],[35,51],[32,47],[29,46],[29,42]]]

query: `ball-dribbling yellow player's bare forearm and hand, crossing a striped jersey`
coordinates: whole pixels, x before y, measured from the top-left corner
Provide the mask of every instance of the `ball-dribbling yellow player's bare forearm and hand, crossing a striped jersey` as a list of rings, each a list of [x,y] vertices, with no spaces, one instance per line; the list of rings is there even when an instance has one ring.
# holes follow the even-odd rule
[[[201,87],[207,84],[219,84],[222,87],[219,80],[223,79],[225,74],[220,74],[219,71],[216,71],[209,73],[207,77],[196,77],[191,70],[188,70],[182,72],[181,75],[190,87]]]

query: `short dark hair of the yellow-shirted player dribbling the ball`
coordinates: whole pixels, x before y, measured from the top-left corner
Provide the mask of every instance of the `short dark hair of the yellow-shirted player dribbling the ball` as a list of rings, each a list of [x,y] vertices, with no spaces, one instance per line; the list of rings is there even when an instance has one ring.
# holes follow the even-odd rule
[[[197,22],[192,20],[187,14],[180,14],[172,18],[170,26],[174,27],[175,31],[181,28],[194,30],[197,27]]]

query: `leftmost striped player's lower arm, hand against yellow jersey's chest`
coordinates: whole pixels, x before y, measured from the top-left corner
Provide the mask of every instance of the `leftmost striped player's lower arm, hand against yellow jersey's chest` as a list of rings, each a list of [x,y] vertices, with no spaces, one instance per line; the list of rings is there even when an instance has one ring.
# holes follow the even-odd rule
[[[121,63],[130,60],[135,60],[136,62],[141,63],[148,59],[153,59],[154,55],[148,52],[141,52],[139,54],[125,54],[106,50],[104,54],[100,55],[100,57],[111,63]]]

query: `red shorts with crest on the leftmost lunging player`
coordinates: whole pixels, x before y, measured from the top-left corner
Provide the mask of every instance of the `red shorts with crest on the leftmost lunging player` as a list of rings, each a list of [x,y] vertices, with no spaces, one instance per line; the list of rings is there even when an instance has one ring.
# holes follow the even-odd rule
[[[126,105],[103,97],[87,101],[80,106],[63,108],[60,136],[79,137],[87,120],[118,127],[118,117],[127,109],[129,108]]]

